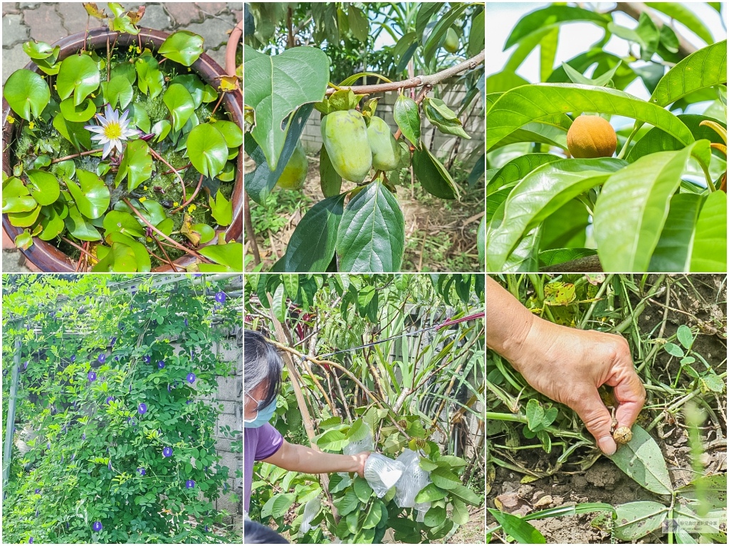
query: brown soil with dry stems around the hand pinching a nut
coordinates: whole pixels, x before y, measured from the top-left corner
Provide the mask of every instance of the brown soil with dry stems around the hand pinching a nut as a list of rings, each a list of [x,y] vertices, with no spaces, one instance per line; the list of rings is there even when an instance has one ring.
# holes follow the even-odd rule
[[[695,340],[693,349],[712,363],[716,373],[724,373],[727,357],[725,275],[692,275],[690,278],[695,289],[685,283],[673,285],[670,293],[660,294],[655,303],[649,302],[639,317],[639,328],[643,334],[652,332],[653,338],[665,339],[674,335],[681,324],[698,326],[701,334]],[[650,283],[651,280],[647,284]],[[637,298],[631,298],[631,304],[634,306],[638,304]],[[661,328],[664,317],[665,326]],[[636,365],[639,366],[640,363],[636,362]],[[666,352],[660,351],[651,373],[656,379],[671,384],[677,375],[677,370],[677,359],[671,359]],[[679,387],[686,386],[689,382],[690,378],[682,376],[679,379]],[[709,417],[703,427],[702,440],[706,451],[701,462],[707,474],[726,472],[726,395],[721,397],[714,395],[713,400],[711,395],[703,395],[703,398],[715,414],[722,416],[722,419],[717,423]],[[654,410],[651,405],[649,391],[649,397],[639,416],[639,424],[644,427],[660,414],[660,409]],[[666,421],[651,430],[650,434],[658,441],[674,486],[683,486],[690,482],[693,471],[682,416],[680,419],[668,416]],[[494,441],[496,440],[498,438],[494,438]],[[521,441],[523,445],[523,438]],[[489,443],[487,440],[487,446]],[[515,464],[526,469],[542,471],[554,467],[559,454],[561,449],[553,449],[552,454],[546,454],[541,448],[512,451]],[[487,495],[487,506],[495,508],[498,503],[502,510],[508,513],[526,515],[537,510],[580,502],[605,502],[613,506],[640,500],[665,504],[670,502],[668,496],[664,498],[637,486],[634,480],[628,478],[603,456],[599,456],[593,464],[589,464],[595,456],[595,450],[578,449],[569,456],[558,472],[531,483],[521,483],[524,477],[521,472],[494,466],[495,475],[489,480],[491,491]],[[578,461],[582,464],[577,464]],[[547,518],[531,520],[529,523],[546,537],[547,543],[609,543],[611,542],[609,532],[591,523],[598,515],[599,513],[592,513]],[[491,515],[487,515],[487,525],[493,526],[494,523],[496,522]],[[502,538],[494,535],[491,542],[501,543]],[[660,529],[655,534],[636,541],[639,544],[664,542],[666,537],[660,534]]]

